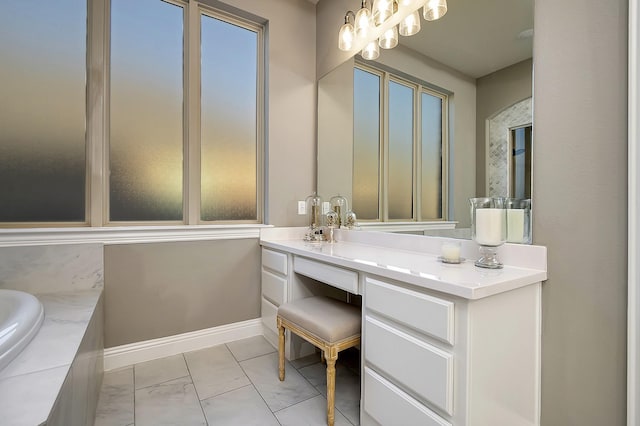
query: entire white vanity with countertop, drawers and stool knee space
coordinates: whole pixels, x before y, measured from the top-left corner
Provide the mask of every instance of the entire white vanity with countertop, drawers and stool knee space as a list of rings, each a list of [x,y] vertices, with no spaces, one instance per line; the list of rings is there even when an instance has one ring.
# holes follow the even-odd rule
[[[510,247],[513,266],[482,270],[442,264],[432,237],[352,231],[318,245],[287,232],[261,235],[265,337],[277,346],[283,302],[324,287],[360,294],[361,424],[540,424],[544,247]],[[289,359],[305,354],[287,343]]]

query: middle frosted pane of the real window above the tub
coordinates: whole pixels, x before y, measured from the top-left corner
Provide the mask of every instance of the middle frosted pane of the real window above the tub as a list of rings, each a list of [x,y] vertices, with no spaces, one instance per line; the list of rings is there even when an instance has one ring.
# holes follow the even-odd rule
[[[110,221],[181,221],[183,8],[111,1]]]

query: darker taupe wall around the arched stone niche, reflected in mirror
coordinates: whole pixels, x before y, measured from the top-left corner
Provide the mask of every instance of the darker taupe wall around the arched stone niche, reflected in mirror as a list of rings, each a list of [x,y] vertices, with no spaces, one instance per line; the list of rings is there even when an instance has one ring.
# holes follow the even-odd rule
[[[531,97],[532,60],[519,62],[476,80],[476,196],[486,196],[486,122],[518,101]],[[535,101],[534,101],[535,102]],[[534,141],[535,143],[535,141]]]

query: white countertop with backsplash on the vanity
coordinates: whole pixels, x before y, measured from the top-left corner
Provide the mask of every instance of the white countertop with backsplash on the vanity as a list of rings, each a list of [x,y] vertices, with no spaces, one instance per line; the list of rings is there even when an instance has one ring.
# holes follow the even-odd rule
[[[340,231],[338,242],[330,244],[305,242],[295,228],[277,230],[261,233],[263,247],[465,299],[480,299],[547,279],[546,248],[541,246],[507,244],[499,252],[504,268],[483,269],[476,267],[471,257],[477,256],[473,241],[462,242],[462,256],[467,260],[445,264],[438,257],[448,238]]]

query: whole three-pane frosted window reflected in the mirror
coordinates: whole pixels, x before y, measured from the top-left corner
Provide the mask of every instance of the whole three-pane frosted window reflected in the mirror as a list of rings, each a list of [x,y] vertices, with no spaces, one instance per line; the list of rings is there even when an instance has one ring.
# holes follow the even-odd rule
[[[358,64],[353,98],[352,197],[358,218],[442,219],[447,96],[418,79]]]

